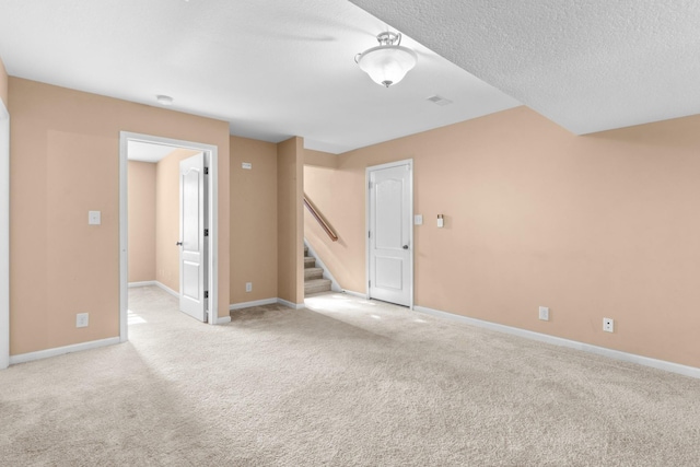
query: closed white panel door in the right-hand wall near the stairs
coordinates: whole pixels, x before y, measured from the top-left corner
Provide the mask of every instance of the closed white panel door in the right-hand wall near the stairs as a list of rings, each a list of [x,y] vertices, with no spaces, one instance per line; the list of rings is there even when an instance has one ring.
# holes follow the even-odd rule
[[[411,163],[380,167],[368,170],[369,295],[412,306]]]

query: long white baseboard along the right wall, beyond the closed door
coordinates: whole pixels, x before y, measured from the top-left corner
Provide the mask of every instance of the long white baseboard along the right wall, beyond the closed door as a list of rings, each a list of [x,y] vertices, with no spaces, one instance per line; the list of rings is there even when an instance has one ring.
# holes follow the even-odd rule
[[[445,319],[451,319],[459,323],[478,326],[485,329],[494,330],[498,332],[510,334],[513,336],[523,337],[525,339],[537,340],[539,342],[551,343],[553,346],[567,347],[569,349],[581,350],[588,353],[595,353],[597,355],[607,357],[614,360],[620,360],[623,362],[637,363],[643,366],[650,366],[656,370],[663,370],[670,373],[681,374],[684,376],[690,376],[700,378],[700,369],[695,366],[681,365],[679,363],[667,362],[665,360],[656,360],[649,357],[637,355],[634,353],[622,352],[620,350],[607,349],[605,347],[593,346],[591,343],[579,342],[575,340],[564,339],[561,337],[549,336],[541,332],[535,332],[527,329],[520,329],[512,326],[505,326],[498,323],[486,322],[482,319],[470,318],[467,316],[455,315],[453,313],[442,312],[440,310],[428,308],[425,306],[415,306],[415,311],[424,313],[427,315],[433,315]]]

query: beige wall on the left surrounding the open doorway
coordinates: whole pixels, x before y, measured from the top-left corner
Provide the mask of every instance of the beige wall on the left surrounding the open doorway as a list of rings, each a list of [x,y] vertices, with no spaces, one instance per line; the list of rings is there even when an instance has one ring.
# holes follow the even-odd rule
[[[119,131],[219,147],[219,316],[229,315],[229,125],[9,79],[10,345],[25,353],[119,335]],[[88,225],[88,211],[102,225]],[[75,328],[75,314],[90,326]]]

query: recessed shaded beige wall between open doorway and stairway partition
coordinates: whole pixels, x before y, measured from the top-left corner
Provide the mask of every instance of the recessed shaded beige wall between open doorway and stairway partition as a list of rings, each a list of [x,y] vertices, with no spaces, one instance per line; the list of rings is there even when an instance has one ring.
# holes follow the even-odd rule
[[[231,303],[277,297],[277,144],[231,137]],[[249,162],[252,170],[242,168]],[[245,283],[253,282],[253,291]]]

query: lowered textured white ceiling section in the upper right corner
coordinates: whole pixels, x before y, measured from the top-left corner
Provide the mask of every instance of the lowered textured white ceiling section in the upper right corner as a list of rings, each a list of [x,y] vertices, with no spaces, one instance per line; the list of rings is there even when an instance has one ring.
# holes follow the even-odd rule
[[[350,0],[582,135],[700,112],[700,2]]]

